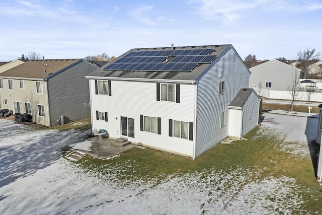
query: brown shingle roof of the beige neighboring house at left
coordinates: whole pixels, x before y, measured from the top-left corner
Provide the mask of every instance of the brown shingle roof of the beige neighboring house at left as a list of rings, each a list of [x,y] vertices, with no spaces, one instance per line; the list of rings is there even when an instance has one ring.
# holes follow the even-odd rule
[[[28,60],[27,62],[4,71],[0,77],[44,79],[61,69],[82,59]]]

